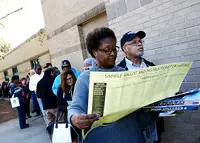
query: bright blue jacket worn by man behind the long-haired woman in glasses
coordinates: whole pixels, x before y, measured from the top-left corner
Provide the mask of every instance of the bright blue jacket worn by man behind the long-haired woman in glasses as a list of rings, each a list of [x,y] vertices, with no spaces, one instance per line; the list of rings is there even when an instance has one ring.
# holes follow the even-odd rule
[[[72,71],[74,72],[76,78],[78,78],[78,76],[81,74],[79,71],[75,70],[74,68],[72,68]],[[58,92],[58,88],[60,86],[61,83],[61,78],[60,78],[60,74],[55,78],[54,82],[53,82],[53,86],[52,86],[52,91],[53,93],[57,96],[57,92]]]

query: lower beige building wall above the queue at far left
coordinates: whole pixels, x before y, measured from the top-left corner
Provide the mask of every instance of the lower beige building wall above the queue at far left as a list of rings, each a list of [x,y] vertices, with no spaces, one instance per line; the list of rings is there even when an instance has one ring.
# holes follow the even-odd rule
[[[47,62],[51,62],[48,43],[44,39],[43,44],[35,37],[29,41],[25,41],[20,46],[13,49],[11,52],[0,60],[0,82],[4,81],[4,71],[8,71],[9,78],[13,76],[13,67],[17,67],[19,77],[25,77],[31,69],[30,61],[34,58],[39,58],[42,66]]]

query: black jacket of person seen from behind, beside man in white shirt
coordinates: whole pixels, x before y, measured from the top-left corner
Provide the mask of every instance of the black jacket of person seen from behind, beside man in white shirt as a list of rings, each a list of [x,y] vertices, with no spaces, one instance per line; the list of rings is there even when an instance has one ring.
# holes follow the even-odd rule
[[[37,97],[42,99],[44,110],[57,107],[57,97],[51,90],[53,82],[54,76],[44,74],[37,84]]]

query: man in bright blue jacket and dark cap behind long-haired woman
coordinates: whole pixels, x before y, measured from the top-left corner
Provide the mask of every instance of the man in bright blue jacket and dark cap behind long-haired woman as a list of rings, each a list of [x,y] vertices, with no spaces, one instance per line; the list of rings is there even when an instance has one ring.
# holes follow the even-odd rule
[[[78,78],[78,76],[80,75],[80,72],[76,71],[74,68],[71,67],[71,63],[68,60],[62,61],[61,68],[62,68],[63,71],[71,69],[74,72],[76,78]],[[61,78],[60,78],[60,75],[58,75],[55,78],[53,86],[52,86],[52,91],[56,96],[57,96],[57,92],[58,92],[58,88],[60,86],[60,83],[61,83]]]

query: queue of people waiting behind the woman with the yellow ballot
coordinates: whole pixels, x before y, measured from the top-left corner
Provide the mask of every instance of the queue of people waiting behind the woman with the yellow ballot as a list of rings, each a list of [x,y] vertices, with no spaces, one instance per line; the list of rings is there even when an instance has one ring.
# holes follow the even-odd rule
[[[94,61],[92,58],[87,59],[84,68],[88,69],[92,61]],[[19,76],[12,77],[11,95],[19,98],[20,107],[17,107],[17,111],[21,129],[29,127],[26,119],[31,118],[30,99],[33,105],[32,113],[36,113],[35,117],[42,116],[47,127],[55,122],[57,109],[61,111],[59,120],[64,117],[63,109],[69,105],[69,102],[65,101],[72,100],[71,86],[75,85],[80,72],[72,68],[68,60],[63,60],[61,67],[60,74],[58,68],[52,67],[51,63],[46,64],[44,71],[40,65],[36,65],[34,70],[29,71],[28,78],[19,80]],[[67,82],[66,76],[69,78]],[[67,113],[67,110],[65,112]]]

